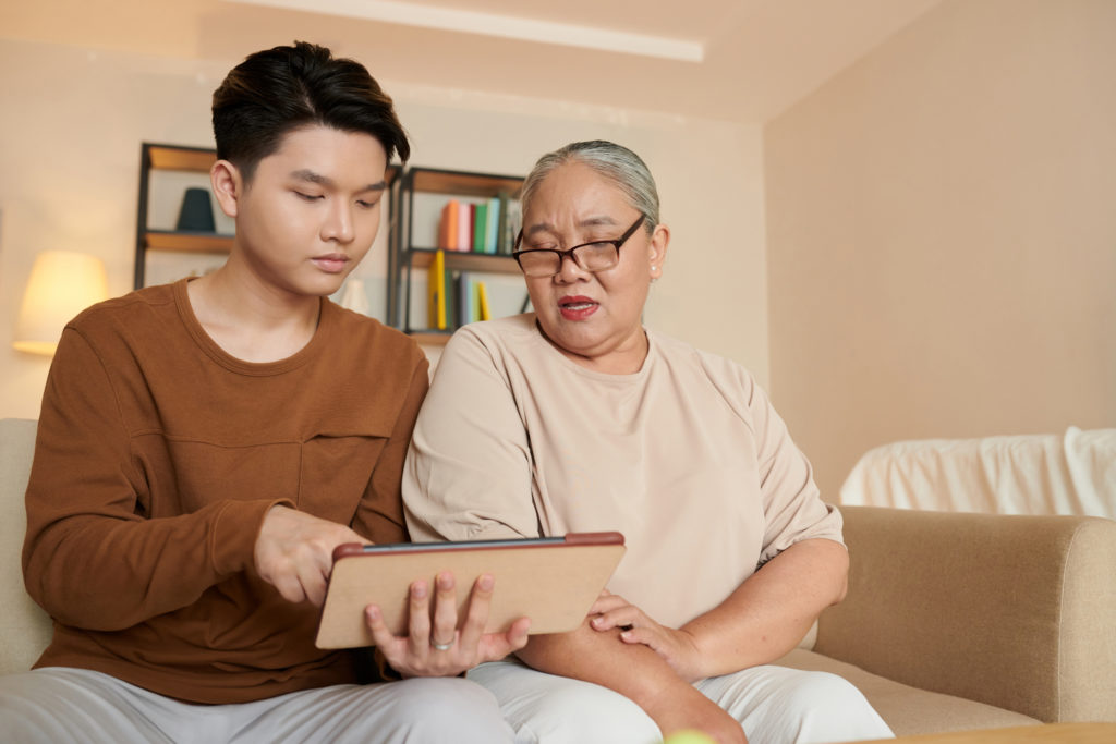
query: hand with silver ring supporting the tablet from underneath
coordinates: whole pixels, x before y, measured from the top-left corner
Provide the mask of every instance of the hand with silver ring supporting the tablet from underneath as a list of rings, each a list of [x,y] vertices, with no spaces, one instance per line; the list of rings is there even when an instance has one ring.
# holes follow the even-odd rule
[[[516,620],[507,632],[484,632],[494,581],[483,574],[473,584],[465,621],[458,629],[456,591],[449,571],[435,578],[434,616],[425,581],[411,584],[407,635],[393,636],[379,608],[365,609],[368,629],[392,668],[404,677],[450,677],[483,661],[496,661],[527,645],[531,621]]]

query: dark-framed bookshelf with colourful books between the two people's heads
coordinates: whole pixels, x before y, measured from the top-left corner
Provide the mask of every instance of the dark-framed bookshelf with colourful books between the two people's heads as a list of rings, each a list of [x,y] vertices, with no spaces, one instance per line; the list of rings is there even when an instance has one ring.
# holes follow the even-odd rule
[[[445,329],[432,327],[429,313],[416,312],[414,306],[420,300],[425,307],[427,297],[426,277],[444,240],[439,224],[442,207],[451,200],[462,203],[485,203],[500,200],[502,214],[497,229],[494,252],[482,250],[442,250],[448,272],[470,272],[501,278],[513,292],[512,311],[519,311],[527,296],[519,283],[519,267],[511,258],[511,243],[519,230],[516,200],[523,180],[519,176],[493,175],[468,171],[414,167],[403,173],[397,181],[395,203],[398,219],[393,221],[388,243],[388,323],[413,336],[421,344],[441,345],[453,334],[454,323]],[[510,206],[507,206],[510,205]],[[491,209],[491,207],[490,207]],[[490,248],[492,248],[490,245]],[[508,303],[504,303],[506,308]],[[508,310],[493,315],[508,315]]]

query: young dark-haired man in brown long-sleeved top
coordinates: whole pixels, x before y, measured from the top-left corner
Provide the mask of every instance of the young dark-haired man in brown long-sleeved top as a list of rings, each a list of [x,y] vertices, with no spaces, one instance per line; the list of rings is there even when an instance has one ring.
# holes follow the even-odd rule
[[[406,539],[400,480],[427,386],[415,344],[326,299],[372,245],[410,146],[364,67],[308,44],[213,95],[217,272],[109,300],[62,334],[27,492],[28,591],[55,619],[0,679],[15,741],[510,741],[465,679],[526,642],[455,631],[449,574],[379,664],[315,647],[344,542]],[[435,603],[430,620],[431,595]],[[393,674],[394,673],[394,674]],[[408,678],[358,684],[384,675]]]

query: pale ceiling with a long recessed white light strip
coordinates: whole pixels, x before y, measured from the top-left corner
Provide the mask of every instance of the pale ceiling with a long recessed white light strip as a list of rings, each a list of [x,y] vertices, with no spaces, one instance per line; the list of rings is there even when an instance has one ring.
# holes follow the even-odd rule
[[[763,123],[940,2],[37,0],[0,36],[222,65],[306,39],[389,83]]]

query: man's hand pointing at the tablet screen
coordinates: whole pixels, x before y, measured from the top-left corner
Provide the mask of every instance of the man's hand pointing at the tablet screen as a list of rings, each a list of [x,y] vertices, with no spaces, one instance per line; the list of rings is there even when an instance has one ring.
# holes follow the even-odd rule
[[[256,571],[291,602],[310,600],[320,607],[334,568],[334,548],[367,543],[356,532],[288,506],[272,506],[256,539]]]

